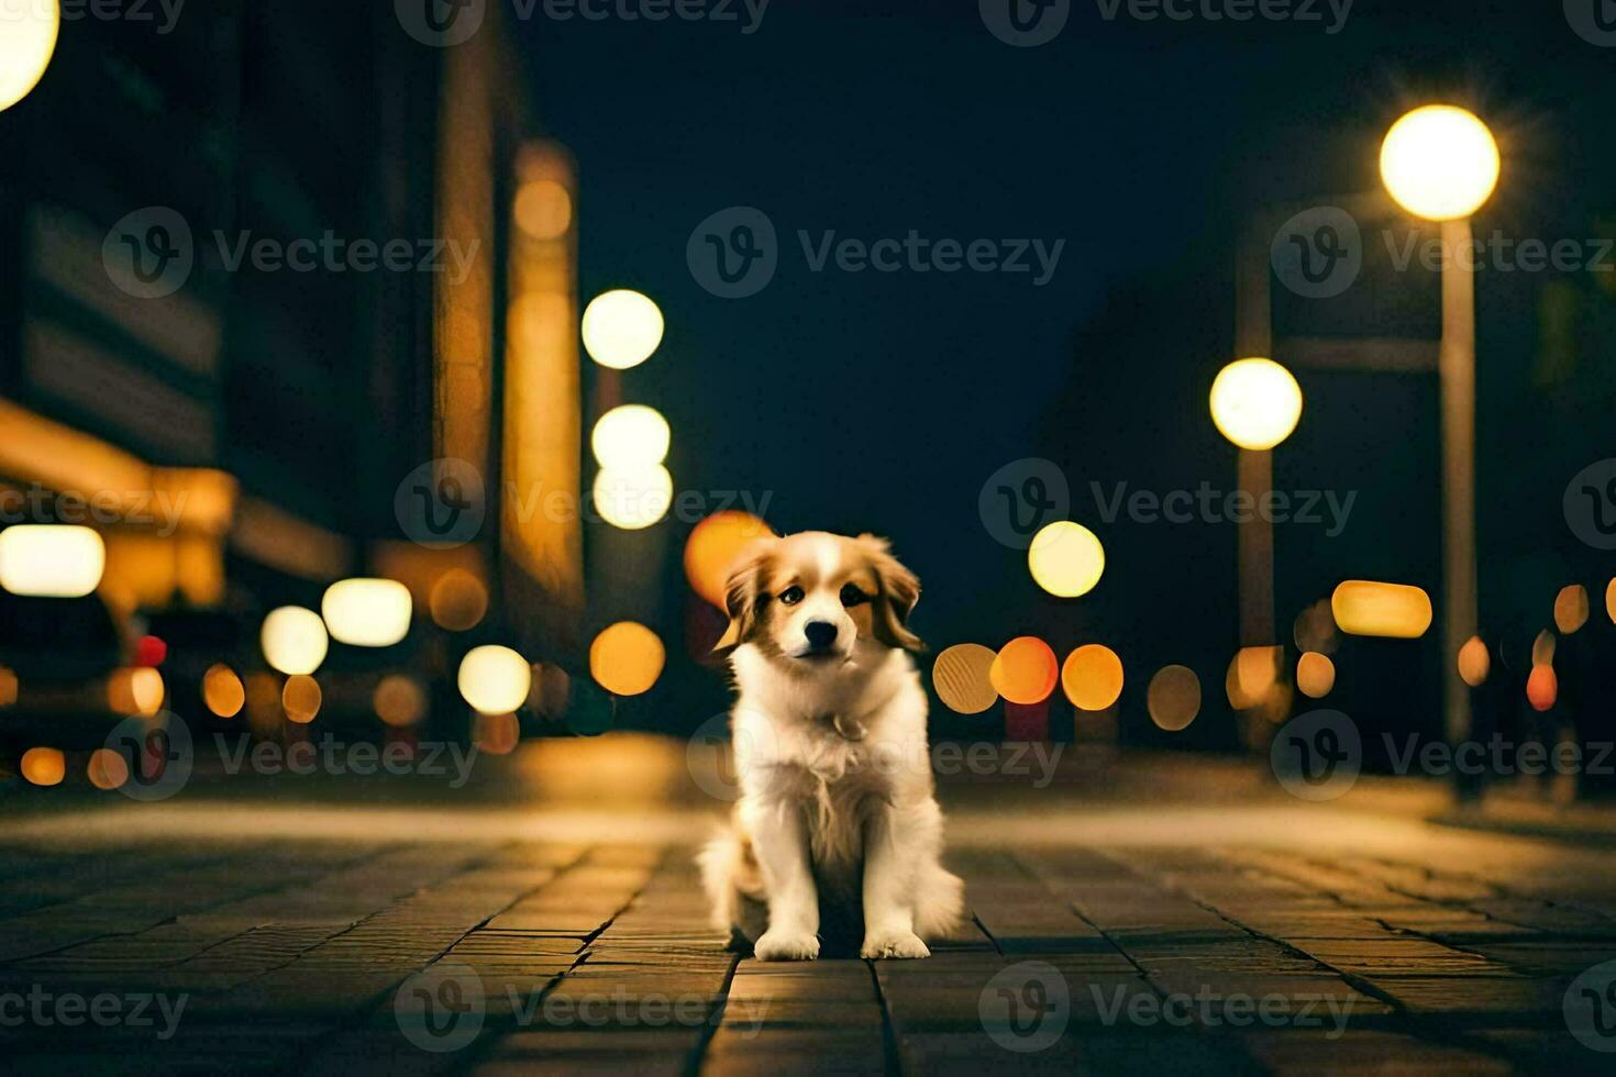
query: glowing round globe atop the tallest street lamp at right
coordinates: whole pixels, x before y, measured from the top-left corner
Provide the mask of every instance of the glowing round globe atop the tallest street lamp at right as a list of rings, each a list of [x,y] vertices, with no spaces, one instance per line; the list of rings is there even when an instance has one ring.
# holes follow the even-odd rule
[[[1425,105],[1387,131],[1380,179],[1398,205],[1429,221],[1482,208],[1498,186],[1498,142],[1474,113]]]

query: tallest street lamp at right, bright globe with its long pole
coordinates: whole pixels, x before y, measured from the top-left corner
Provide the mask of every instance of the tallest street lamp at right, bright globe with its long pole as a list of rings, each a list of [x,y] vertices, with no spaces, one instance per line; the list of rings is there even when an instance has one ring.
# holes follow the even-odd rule
[[[1409,213],[1441,228],[1443,725],[1471,731],[1469,688],[1454,665],[1477,628],[1475,583],[1475,258],[1471,215],[1498,186],[1498,142],[1474,113],[1425,105],[1387,132],[1380,178]],[[1461,257],[1459,252],[1464,252]]]

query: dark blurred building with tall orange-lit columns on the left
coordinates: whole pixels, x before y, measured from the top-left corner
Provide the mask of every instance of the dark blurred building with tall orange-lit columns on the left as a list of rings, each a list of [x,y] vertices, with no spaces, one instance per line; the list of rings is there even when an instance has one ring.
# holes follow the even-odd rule
[[[65,21],[0,113],[6,523],[100,505],[110,597],[244,625],[461,570],[485,631],[572,654],[575,191],[533,131],[498,10],[452,47],[391,3]],[[485,522],[423,546],[396,492],[444,457]]]

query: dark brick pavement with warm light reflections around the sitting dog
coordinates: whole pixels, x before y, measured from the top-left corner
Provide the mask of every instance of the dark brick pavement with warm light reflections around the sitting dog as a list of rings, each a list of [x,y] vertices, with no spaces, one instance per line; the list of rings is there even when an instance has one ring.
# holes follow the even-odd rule
[[[1616,961],[1616,856],[1598,851],[1399,848],[1396,833],[1354,851],[1309,843],[1315,815],[1290,846],[965,843],[949,859],[973,920],[932,959],[768,966],[706,927],[685,843],[428,841],[409,817],[364,840],[0,838],[6,1069],[1566,1074],[1616,1059],[1563,1011],[1574,977]],[[147,995],[149,1024],[124,1020]],[[118,1020],[92,1022],[97,1004]]]

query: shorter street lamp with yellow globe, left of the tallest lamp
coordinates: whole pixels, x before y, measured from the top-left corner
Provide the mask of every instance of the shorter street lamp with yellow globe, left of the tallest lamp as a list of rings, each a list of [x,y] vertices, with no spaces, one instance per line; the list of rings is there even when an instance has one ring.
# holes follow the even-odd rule
[[[1273,488],[1272,449],[1302,417],[1302,389],[1272,358],[1239,358],[1212,381],[1212,421],[1239,449],[1239,489],[1254,505]],[[1273,520],[1252,512],[1239,526],[1239,643],[1267,647],[1273,630]]]

